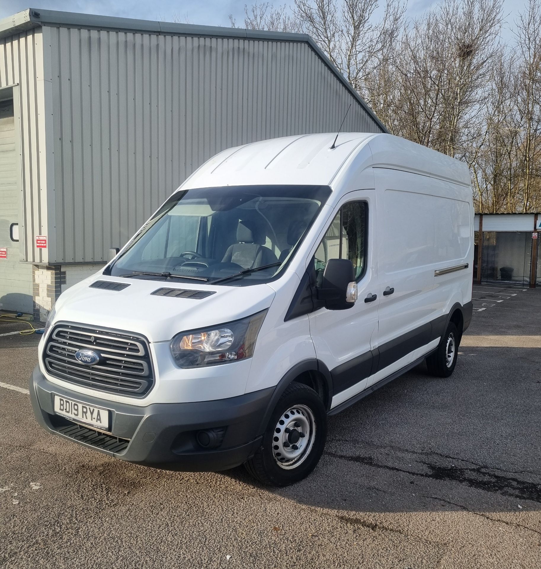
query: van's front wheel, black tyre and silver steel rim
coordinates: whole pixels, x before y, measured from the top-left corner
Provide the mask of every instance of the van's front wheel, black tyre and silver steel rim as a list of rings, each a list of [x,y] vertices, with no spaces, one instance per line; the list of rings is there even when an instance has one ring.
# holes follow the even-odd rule
[[[245,467],[263,484],[293,484],[316,467],[326,439],[323,401],[310,387],[294,382],[276,403],[261,447]]]

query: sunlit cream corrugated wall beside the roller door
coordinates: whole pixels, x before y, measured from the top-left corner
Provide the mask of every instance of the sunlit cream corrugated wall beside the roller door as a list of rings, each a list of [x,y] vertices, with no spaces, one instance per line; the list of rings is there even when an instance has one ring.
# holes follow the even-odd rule
[[[18,85],[20,154],[22,160],[22,216],[19,236],[24,238],[24,258],[46,262],[48,250],[35,248],[35,236],[48,233],[46,101],[43,75],[43,36],[35,28],[0,39],[0,88]],[[15,125],[19,131],[19,125]],[[49,168],[49,175],[51,174]],[[50,179],[50,178],[49,178]],[[49,200],[49,207],[47,202]]]

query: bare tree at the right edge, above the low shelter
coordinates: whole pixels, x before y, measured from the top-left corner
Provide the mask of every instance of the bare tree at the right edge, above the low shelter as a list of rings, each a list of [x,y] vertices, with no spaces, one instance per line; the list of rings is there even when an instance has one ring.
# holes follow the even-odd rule
[[[490,77],[486,133],[470,165],[477,211],[541,207],[540,24],[539,0],[532,0]]]

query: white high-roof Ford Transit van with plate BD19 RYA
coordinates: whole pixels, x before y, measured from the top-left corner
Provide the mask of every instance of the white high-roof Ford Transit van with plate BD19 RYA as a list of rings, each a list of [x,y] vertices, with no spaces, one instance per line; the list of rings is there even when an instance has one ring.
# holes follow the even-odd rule
[[[307,476],[327,417],[472,316],[465,164],[388,134],[279,138],[199,168],[57,300],[30,394],[49,432],[134,463]]]

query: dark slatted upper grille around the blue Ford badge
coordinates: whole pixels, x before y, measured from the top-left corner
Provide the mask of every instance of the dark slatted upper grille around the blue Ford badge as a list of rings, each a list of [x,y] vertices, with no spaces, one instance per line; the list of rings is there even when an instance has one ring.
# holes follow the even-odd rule
[[[82,364],[75,358],[81,348],[97,352],[100,360]],[[154,384],[148,342],[130,332],[59,323],[43,353],[47,371],[72,384],[131,397],[143,397]]]

